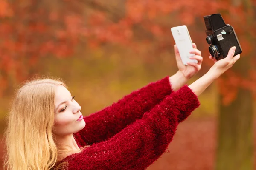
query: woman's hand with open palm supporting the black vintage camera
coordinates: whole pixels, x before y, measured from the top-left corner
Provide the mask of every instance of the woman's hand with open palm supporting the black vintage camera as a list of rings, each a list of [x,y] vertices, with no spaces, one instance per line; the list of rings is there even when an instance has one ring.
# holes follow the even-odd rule
[[[227,57],[224,59],[220,59],[218,61],[212,56],[209,57],[215,62],[210,70],[215,72],[216,78],[221,76],[221,74],[223,74],[225,71],[231,68],[233,64],[235,64],[235,62],[240,58],[240,54],[234,57],[235,50],[236,50],[236,47],[230,48],[230,50],[228,51]]]

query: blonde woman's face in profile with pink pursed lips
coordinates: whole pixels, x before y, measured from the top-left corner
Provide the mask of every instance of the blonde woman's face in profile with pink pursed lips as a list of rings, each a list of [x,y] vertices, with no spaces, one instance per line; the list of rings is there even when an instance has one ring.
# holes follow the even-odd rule
[[[70,135],[85,126],[81,106],[73,99],[70,92],[62,85],[55,91],[54,133],[58,136]]]

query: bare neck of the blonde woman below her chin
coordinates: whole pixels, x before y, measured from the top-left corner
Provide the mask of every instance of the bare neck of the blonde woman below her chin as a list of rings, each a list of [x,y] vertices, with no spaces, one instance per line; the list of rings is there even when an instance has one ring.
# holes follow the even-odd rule
[[[58,160],[64,159],[71,154],[79,153],[81,151],[72,134],[66,136],[55,136],[55,139],[58,148]]]

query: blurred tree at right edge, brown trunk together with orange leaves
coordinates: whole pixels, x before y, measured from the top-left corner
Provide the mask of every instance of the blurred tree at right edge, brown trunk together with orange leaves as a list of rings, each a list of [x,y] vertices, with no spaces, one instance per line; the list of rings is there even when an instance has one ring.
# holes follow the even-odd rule
[[[256,6],[253,0],[233,0],[231,5],[240,9],[231,15],[235,28],[241,29],[238,34],[244,52],[239,63],[218,82],[222,95],[216,170],[253,170]]]

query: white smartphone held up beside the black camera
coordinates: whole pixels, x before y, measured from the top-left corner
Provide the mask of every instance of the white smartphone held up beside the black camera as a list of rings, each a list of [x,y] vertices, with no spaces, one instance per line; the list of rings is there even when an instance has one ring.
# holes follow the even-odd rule
[[[175,44],[180,53],[180,58],[184,65],[187,65],[187,62],[198,63],[196,59],[189,59],[189,57],[194,56],[195,54],[190,54],[189,51],[193,49],[192,40],[189,35],[188,28],[183,26],[172,27],[172,36],[174,38]]]

